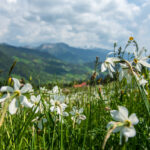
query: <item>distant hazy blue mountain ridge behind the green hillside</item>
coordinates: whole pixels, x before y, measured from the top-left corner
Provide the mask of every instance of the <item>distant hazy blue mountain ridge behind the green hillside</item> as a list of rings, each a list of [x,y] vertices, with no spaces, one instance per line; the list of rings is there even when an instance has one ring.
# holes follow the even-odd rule
[[[101,48],[75,48],[65,43],[46,43],[33,49],[48,52],[60,60],[74,64],[93,62],[97,56],[100,58],[100,61],[104,61],[106,55],[110,52]]]

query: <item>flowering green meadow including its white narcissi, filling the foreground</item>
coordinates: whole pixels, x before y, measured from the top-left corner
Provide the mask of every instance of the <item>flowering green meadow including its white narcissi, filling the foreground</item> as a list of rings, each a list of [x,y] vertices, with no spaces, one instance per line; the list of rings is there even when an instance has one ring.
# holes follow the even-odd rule
[[[114,63],[122,70],[113,73]],[[106,59],[101,70],[114,81],[76,88],[9,78],[0,88],[0,149],[149,150],[150,73],[142,63]]]

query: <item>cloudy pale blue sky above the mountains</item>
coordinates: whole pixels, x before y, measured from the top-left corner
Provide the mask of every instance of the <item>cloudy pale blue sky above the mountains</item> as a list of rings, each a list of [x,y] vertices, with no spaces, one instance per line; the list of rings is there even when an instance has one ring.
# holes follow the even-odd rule
[[[113,49],[133,36],[150,52],[149,10],[149,0],[0,0],[0,43]]]

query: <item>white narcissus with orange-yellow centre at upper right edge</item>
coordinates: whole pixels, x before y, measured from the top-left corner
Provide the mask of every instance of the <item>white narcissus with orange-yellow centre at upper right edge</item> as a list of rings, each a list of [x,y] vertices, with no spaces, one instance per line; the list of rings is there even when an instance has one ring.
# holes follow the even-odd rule
[[[142,66],[150,68],[150,64],[146,62],[148,57],[143,57],[142,53],[145,51],[145,49],[141,49],[139,52],[135,51],[134,52],[134,60],[132,63],[135,64],[135,68],[141,72]]]

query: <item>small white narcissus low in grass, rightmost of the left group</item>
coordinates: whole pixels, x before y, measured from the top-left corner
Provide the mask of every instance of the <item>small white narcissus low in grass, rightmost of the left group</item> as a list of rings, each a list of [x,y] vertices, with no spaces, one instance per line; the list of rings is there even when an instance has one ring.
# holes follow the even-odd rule
[[[81,123],[81,120],[85,120],[86,116],[82,115],[83,113],[83,108],[80,108],[79,110],[74,106],[70,114],[72,115],[71,119],[73,122],[76,122],[78,124]]]

